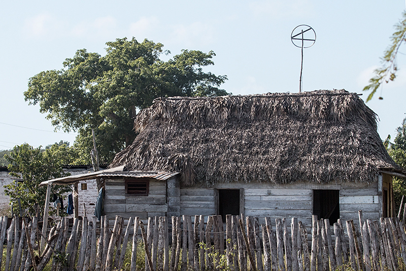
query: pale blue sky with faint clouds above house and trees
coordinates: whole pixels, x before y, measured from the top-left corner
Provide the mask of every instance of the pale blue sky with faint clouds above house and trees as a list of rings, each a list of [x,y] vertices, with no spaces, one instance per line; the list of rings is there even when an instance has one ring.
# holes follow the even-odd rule
[[[107,41],[136,37],[163,43],[172,56],[181,49],[213,50],[215,66],[206,70],[228,76],[222,85],[227,92],[298,92],[300,48],[290,34],[295,26],[308,24],[317,41],[304,50],[303,91],[362,93],[404,9],[400,0],[3,1],[0,149],[24,142],[73,143],[74,134],[44,132],[54,128],[38,106],[24,101],[23,92],[31,76],[61,69],[77,49],[103,55]],[[383,139],[393,137],[406,116],[406,46],[400,52],[398,78],[384,85],[384,100],[378,100],[380,89],[367,103],[380,117]]]

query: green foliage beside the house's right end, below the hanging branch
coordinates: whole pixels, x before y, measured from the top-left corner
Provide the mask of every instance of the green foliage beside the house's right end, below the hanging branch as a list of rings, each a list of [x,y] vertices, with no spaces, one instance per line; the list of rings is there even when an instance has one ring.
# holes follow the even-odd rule
[[[406,169],[406,118],[403,119],[400,127],[396,129],[396,137],[393,143],[389,142],[390,135],[388,135],[385,143],[387,143],[387,150],[401,168]],[[393,196],[395,200],[396,209],[399,209],[402,196],[406,196],[406,180],[398,177],[393,178]]]

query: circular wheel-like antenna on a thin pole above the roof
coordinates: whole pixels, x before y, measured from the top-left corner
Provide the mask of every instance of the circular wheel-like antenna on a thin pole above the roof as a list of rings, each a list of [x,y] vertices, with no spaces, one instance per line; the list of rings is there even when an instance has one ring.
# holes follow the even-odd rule
[[[303,48],[309,48],[313,46],[313,44],[316,42],[316,32],[309,25],[300,24],[293,29],[292,34],[290,34],[290,40],[292,41],[294,46],[301,48],[301,64],[300,64],[300,80],[299,80],[299,92],[301,92],[302,90],[301,74],[303,71]]]

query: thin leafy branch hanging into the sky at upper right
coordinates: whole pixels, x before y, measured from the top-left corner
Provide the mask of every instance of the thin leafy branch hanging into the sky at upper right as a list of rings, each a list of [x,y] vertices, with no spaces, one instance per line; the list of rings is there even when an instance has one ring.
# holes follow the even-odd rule
[[[369,79],[369,84],[363,88],[363,91],[371,91],[366,101],[372,99],[379,86],[385,82],[388,83],[396,78],[397,64],[396,56],[400,45],[406,40],[406,12],[403,12],[402,19],[395,25],[395,33],[391,37],[391,45],[385,50],[382,57],[382,67],[374,71],[375,76]],[[380,97],[380,99],[382,99]]]

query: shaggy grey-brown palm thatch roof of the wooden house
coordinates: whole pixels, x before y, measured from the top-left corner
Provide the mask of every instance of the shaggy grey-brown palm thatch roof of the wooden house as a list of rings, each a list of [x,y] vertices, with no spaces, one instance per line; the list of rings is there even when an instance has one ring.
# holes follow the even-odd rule
[[[134,121],[138,134],[111,167],[181,173],[216,182],[373,182],[399,169],[355,93],[159,98]]]

